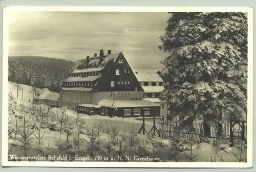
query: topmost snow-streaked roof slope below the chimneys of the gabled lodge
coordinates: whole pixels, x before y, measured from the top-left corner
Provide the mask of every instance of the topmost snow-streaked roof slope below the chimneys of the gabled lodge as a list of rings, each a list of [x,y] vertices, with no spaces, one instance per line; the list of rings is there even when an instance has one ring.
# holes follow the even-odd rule
[[[115,62],[120,55],[121,52],[105,55],[103,60],[100,61],[99,56],[98,57],[92,57],[89,59],[89,62],[87,64],[87,58],[81,59],[76,61],[76,64],[74,65],[73,69],[71,70],[71,73],[80,73],[80,72],[91,72],[91,71],[100,71],[104,69],[104,67],[109,62]]]

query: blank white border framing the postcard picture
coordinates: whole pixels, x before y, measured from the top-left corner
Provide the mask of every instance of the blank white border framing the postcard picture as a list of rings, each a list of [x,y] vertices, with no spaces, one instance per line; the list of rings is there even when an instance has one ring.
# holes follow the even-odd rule
[[[247,162],[12,162],[8,161],[8,13],[11,11],[94,11],[94,12],[247,12],[248,13],[248,98]],[[2,165],[44,167],[137,167],[137,168],[248,168],[252,167],[253,138],[253,8],[249,7],[5,7],[3,13],[3,100]],[[5,64],[5,65],[4,65]]]

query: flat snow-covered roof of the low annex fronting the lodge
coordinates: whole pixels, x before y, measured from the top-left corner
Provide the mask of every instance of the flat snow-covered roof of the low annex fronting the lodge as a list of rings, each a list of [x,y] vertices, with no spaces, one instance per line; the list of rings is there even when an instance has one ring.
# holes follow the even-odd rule
[[[104,107],[117,107],[117,108],[128,108],[128,107],[159,107],[161,105],[156,104],[151,101],[117,101],[104,99],[98,103],[100,106]]]

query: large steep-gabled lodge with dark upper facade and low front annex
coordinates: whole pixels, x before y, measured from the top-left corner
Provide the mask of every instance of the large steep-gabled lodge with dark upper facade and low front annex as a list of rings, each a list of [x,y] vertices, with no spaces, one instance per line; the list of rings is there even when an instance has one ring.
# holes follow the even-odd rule
[[[160,116],[161,105],[143,100],[144,89],[122,52],[78,60],[63,82],[60,107],[89,115]]]

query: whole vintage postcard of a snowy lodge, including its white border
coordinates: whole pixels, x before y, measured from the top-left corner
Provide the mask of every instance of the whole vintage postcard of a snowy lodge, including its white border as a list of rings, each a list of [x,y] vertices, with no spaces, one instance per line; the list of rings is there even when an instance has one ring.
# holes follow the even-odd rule
[[[88,9],[5,8],[4,166],[252,167],[251,8]]]

